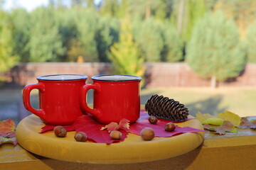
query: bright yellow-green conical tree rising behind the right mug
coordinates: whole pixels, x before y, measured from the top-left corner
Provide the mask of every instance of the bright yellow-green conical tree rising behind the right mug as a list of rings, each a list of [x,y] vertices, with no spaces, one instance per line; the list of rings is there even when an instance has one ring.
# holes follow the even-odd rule
[[[125,18],[121,24],[119,42],[110,47],[109,57],[114,67],[114,74],[129,74],[143,77],[144,59],[139,47],[133,40],[129,19]]]

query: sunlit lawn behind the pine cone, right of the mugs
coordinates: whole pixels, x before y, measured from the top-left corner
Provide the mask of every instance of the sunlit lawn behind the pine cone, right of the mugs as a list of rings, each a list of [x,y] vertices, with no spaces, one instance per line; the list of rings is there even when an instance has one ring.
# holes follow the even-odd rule
[[[255,113],[256,88],[221,87],[219,89],[203,88],[157,88],[142,90],[142,103],[151,95],[159,94],[183,103],[191,115],[198,111],[216,115],[223,111],[231,111],[242,116]]]

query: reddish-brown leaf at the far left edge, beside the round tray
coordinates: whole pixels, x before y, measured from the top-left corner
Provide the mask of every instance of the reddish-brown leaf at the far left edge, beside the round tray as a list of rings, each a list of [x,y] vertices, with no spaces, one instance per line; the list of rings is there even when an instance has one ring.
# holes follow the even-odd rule
[[[0,122],[0,136],[1,137],[15,137],[15,123],[14,120],[8,119]]]

